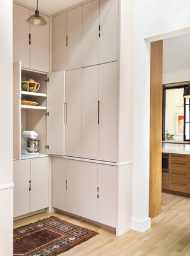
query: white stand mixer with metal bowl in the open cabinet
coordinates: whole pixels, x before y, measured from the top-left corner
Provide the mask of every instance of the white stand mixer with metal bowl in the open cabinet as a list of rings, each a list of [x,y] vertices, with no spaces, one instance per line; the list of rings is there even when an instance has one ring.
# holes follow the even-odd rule
[[[40,140],[37,140],[37,132],[23,131],[22,154],[39,154]]]

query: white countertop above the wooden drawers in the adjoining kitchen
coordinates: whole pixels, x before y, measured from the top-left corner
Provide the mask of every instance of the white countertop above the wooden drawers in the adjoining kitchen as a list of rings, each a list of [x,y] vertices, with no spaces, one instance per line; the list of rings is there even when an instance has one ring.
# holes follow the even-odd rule
[[[190,154],[190,144],[162,143],[162,153]]]

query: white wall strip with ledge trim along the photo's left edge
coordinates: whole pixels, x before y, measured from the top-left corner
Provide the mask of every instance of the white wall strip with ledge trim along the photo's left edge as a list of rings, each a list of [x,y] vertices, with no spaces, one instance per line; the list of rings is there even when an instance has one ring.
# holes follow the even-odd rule
[[[12,0],[1,0],[0,255],[12,256]]]

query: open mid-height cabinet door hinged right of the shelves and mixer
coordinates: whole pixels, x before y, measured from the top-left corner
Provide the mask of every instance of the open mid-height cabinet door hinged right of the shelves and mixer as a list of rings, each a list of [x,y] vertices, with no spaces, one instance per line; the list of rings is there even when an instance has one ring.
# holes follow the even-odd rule
[[[47,154],[64,156],[64,72],[48,74],[47,82]]]

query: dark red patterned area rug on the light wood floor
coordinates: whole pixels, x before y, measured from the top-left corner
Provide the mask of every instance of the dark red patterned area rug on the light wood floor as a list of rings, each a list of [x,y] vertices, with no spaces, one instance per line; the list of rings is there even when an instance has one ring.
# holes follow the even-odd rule
[[[56,256],[98,235],[56,217],[14,229],[14,256]]]

